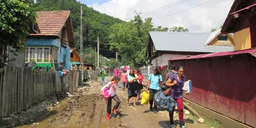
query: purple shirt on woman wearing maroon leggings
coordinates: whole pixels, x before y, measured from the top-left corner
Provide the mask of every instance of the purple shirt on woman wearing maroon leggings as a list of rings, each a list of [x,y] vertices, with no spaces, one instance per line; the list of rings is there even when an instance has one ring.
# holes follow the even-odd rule
[[[171,75],[169,78],[172,80],[172,83],[174,83],[174,75]],[[177,84],[175,86],[172,86],[172,92],[170,93],[170,96],[172,96],[174,99],[182,98],[182,87],[184,86],[186,77],[182,75],[181,81],[179,81],[178,78],[176,79],[177,79]]]

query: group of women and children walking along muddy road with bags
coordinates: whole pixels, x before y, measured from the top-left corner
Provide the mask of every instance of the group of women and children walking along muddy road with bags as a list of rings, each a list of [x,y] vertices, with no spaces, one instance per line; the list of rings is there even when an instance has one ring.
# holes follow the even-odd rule
[[[116,67],[116,70],[118,68]],[[115,72],[115,71],[114,71]],[[119,74],[119,73],[117,73]],[[109,116],[111,114],[111,103],[112,99],[116,100],[116,104],[113,108],[113,113],[116,114],[116,109],[118,108],[119,104],[121,103],[120,99],[116,95],[118,91],[118,82],[121,80],[121,87],[124,91],[125,86],[127,88],[128,98],[126,101],[127,105],[130,105],[129,101],[133,97],[133,106],[137,107],[136,101],[139,100],[141,89],[143,89],[143,85],[146,85],[144,76],[141,73],[140,69],[134,70],[132,67],[128,68],[125,66],[123,73],[119,75],[114,74],[114,77],[111,82],[106,84],[100,92],[100,95],[102,96],[102,91],[104,88],[112,88],[112,94],[111,97],[108,99],[108,105],[107,105],[107,114],[106,114],[106,120],[109,120]],[[165,82],[166,87],[172,88],[172,92],[170,93],[170,96],[172,96],[178,105],[178,111],[179,111],[179,121],[180,121],[180,127],[185,128],[183,123],[183,97],[182,97],[182,91],[181,88],[184,85],[184,81],[186,80],[184,74],[184,68],[182,66],[177,68],[177,72],[175,71],[175,66],[170,66],[170,72],[167,74],[167,81]],[[150,92],[150,110],[152,110],[154,113],[157,113],[157,104],[154,103],[153,108],[153,102],[154,102],[154,95],[160,91],[160,85],[162,85],[162,76],[159,73],[159,69],[157,67],[153,68],[153,74],[151,74],[148,78],[147,88],[146,92]],[[170,118],[170,127],[175,128],[176,125],[174,124],[173,120],[173,114],[174,112],[169,113]]]

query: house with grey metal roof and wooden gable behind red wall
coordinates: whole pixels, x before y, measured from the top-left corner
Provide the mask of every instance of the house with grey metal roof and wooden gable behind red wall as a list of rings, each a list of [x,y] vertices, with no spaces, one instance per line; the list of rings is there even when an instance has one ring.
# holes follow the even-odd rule
[[[154,66],[167,65],[170,58],[233,50],[233,36],[215,32],[150,32],[145,57]]]

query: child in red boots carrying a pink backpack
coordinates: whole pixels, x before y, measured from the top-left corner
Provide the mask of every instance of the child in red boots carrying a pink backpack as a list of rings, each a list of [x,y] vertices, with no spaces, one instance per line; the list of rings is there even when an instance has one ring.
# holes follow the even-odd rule
[[[116,100],[116,104],[113,108],[113,113],[116,115],[116,109],[121,103],[121,100],[116,95],[118,91],[118,82],[120,81],[120,77],[116,76],[106,84],[100,91],[100,96],[103,96],[106,100],[108,100],[108,104],[106,105],[106,120],[110,120],[111,107],[112,107],[112,99]]]

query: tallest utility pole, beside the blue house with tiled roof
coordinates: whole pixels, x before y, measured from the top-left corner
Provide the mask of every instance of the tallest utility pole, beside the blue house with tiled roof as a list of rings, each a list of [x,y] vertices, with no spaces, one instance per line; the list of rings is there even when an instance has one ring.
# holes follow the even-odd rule
[[[83,44],[82,44],[82,6],[81,6],[81,19],[80,19],[80,65],[82,64],[82,80],[83,80]]]

